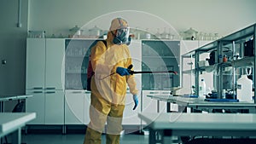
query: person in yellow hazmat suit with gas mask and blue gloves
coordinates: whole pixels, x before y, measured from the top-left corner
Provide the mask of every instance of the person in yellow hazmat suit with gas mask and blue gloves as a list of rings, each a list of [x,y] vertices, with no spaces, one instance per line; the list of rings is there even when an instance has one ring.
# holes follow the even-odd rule
[[[102,131],[107,122],[107,144],[118,144],[122,131],[127,84],[135,106],[138,105],[138,90],[131,71],[129,27],[122,18],[113,19],[109,28],[107,45],[102,41],[90,51],[94,76],[91,78],[90,123],[84,144],[101,144]]]

